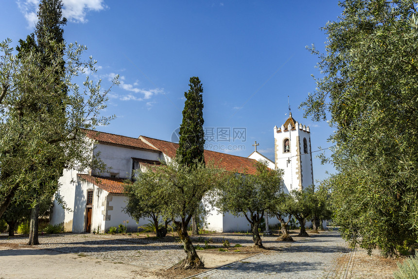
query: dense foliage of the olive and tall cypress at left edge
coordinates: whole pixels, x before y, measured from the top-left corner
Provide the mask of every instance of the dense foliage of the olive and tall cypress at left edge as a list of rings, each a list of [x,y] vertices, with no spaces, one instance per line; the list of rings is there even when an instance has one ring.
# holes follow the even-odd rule
[[[17,55],[9,39],[0,43],[0,216],[15,196],[31,207],[51,198],[64,167],[104,168],[86,156],[84,129],[113,118],[100,116],[107,92],[88,77],[82,88],[72,82],[96,61],[81,59],[85,46],[64,45],[61,6],[40,2],[36,38],[20,40]]]

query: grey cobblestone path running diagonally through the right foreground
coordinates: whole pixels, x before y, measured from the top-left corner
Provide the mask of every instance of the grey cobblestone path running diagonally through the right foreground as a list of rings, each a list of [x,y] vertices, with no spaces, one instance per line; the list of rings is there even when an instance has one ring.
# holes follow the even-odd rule
[[[279,251],[256,255],[192,278],[340,278],[346,268],[343,266],[341,270],[337,259],[350,252],[337,231],[312,234],[303,241],[282,246]]]

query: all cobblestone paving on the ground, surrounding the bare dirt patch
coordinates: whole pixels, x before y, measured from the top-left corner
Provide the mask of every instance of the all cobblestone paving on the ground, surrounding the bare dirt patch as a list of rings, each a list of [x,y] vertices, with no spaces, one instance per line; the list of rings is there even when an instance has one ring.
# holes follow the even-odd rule
[[[294,236],[293,236],[294,237]],[[296,242],[277,242],[277,236],[263,236],[263,245],[271,248],[263,254],[209,270],[194,278],[325,278],[325,279],[390,279],[396,262],[384,259],[375,251],[369,257],[364,249],[351,250],[337,231],[311,234],[309,238],[294,237]],[[251,234],[218,233],[192,237],[193,243],[222,246],[228,240],[231,245],[253,245]],[[185,253],[173,238],[155,240],[128,235],[59,234],[39,236],[40,245],[35,248],[99,261],[125,263],[146,270],[164,270],[185,257]],[[26,244],[27,237],[11,238],[1,234],[0,244]],[[1,249],[8,249],[0,246]],[[14,248],[16,249],[16,248]]]

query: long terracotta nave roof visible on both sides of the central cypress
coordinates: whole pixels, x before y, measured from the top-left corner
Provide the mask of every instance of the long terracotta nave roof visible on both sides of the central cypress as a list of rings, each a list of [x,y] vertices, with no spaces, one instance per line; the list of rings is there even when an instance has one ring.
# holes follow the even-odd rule
[[[157,148],[168,157],[175,157],[175,151],[178,148],[178,143],[165,140],[157,140],[144,136],[140,136],[139,139],[143,140],[146,143],[149,143],[152,147]],[[217,164],[221,168],[224,168],[226,171],[244,172],[246,170],[249,174],[256,173],[256,168],[254,167],[254,163],[256,161],[254,159],[209,150],[204,151],[204,156],[205,163],[214,161],[215,164]]]

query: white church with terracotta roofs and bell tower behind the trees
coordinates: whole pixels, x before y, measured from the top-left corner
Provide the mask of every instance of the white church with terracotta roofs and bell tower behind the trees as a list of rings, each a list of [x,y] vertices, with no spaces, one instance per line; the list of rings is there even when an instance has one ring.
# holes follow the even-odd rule
[[[275,161],[269,160],[257,151],[249,157],[240,157],[210,150],[204,151],[205,161],[214,161],[227,171],[244,170],[249,174],[256,172],[254,162],[266,160],[271,169],[284,170],[285,192],[302,190],[313,184],[310,129],[296,122],[290,114],[280,128],[274,127]],[[58,194],[65,201],[65,210],[54,201],[50,223],[62,225],[72,232],[106,232],[109,227],[125,223],[129,230],[136,231],[147,220],[133,220],[124,212],[126,197],[123,194],[125,179],[132,179],[136,171],[146,171],[160,161],[170,161],[175,157],[178,144],[145,136],[130,138],[110,133],[86,131],[86,137],[94,145],[91,157],[98,155],[106,164],[108,171],[99,173],[86,170],[64,170],[60,177]],[[126,222],[128,221],[128,222]],[[272,219],[270,225],[277,223]],[[249,229],[245,217],[235,217],[228,212],[221,214],[215,209],[208,216],[209,230],[240,231]]]

